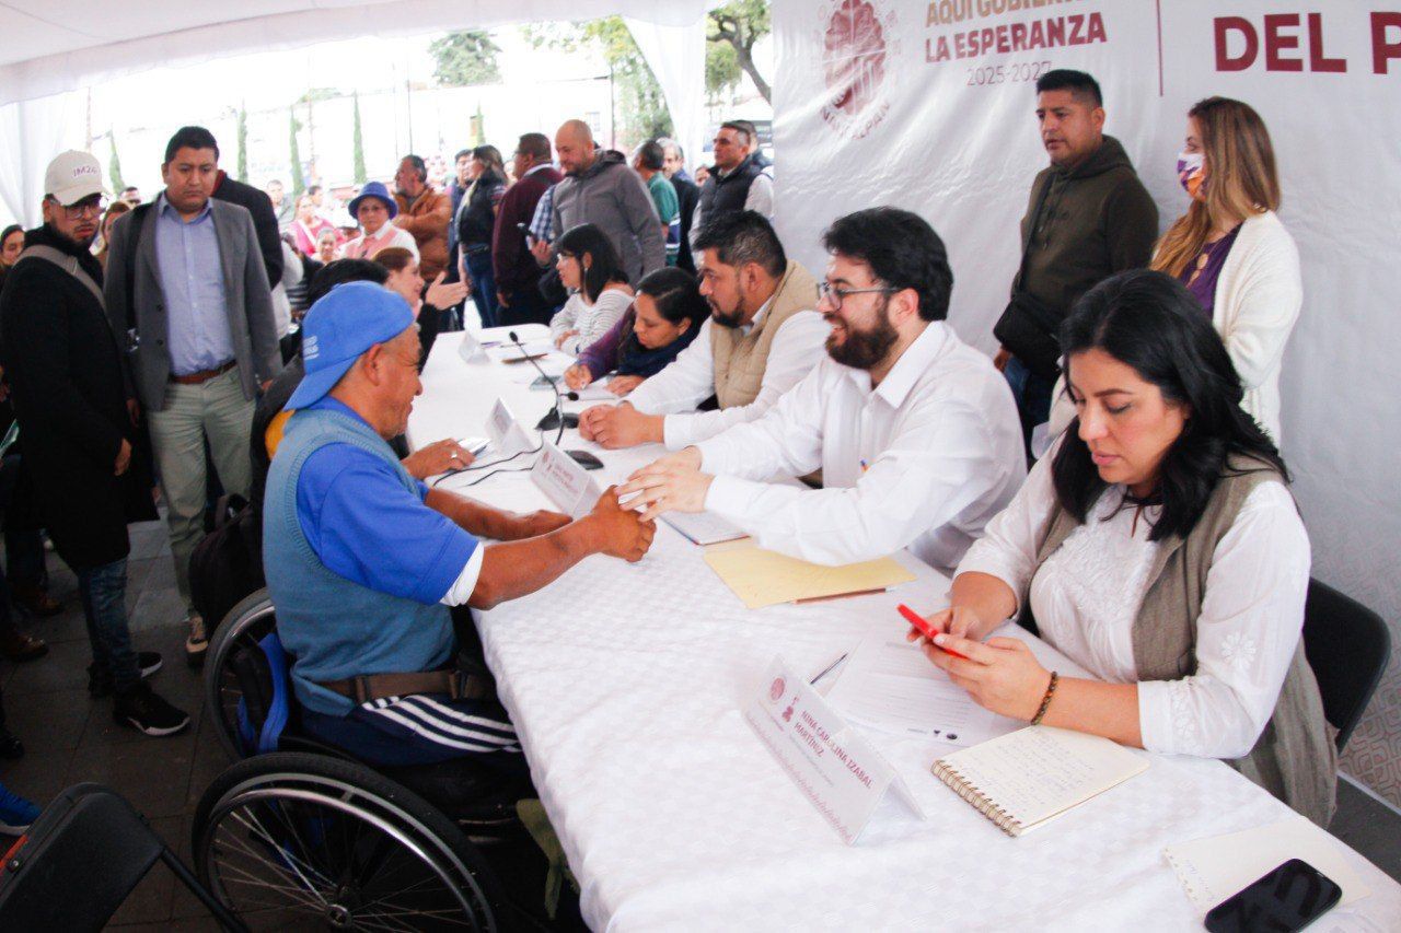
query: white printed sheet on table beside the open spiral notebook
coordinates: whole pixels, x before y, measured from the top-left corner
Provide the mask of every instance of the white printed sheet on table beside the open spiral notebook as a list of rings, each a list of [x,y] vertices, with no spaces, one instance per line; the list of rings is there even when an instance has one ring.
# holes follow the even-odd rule
[[[892,626],[888,637],[864,639],[827,695],[842,716],[883,733],[976,745],[1005,730],[998,714],[978,706],[968,691],[929,663],[919,646]]]

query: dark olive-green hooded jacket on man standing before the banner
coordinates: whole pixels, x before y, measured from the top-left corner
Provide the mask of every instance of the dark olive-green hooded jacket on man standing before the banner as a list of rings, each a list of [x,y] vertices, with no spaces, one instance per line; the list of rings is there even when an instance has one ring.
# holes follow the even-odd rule
[[[1156,240],[1157,206],[1124,146],[1105,136],[1075,168],[1052,165],[1037,174],[1021,219],[1026,268],[1013,291],[1024,289],[1065,318],[1101,280],[1146,266]]]

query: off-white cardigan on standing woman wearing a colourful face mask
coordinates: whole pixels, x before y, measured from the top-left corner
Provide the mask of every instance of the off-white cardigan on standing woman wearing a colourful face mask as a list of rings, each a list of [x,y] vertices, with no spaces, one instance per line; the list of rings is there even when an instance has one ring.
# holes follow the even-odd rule
[[[1272,210],[1241,224],[1216,280],[1212,325],[1222,335],[1240,374],[1245,396],[1240,406],[1279,445],[1279,368],[1285,345],[1303,305],[1299,249]],[[1054,440],[1075,417],[1065,375],[1052,394],[1047,438]]]

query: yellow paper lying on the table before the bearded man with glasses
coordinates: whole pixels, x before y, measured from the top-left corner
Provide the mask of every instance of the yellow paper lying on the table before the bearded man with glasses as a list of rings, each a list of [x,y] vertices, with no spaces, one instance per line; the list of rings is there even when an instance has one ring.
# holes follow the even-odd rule
[[[824,567],[752,544],[709,551],[705,562],[751,609],[878,591],[915,579],[891,558]]]

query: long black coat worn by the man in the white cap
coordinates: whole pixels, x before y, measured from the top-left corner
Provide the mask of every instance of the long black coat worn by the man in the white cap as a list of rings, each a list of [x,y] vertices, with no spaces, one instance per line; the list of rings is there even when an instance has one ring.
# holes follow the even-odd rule
[[[95,283],[102,268],[49,227],[28,245],[76,256]],[[126,412],[122,357],[102,304],[46,259],[15,263],[0,291],[0,352],[34,476],[39,516],[76,569],[126,556],[127,521],[156,518],[149,444]],[[132,466],[112,469],[122,440]]]

